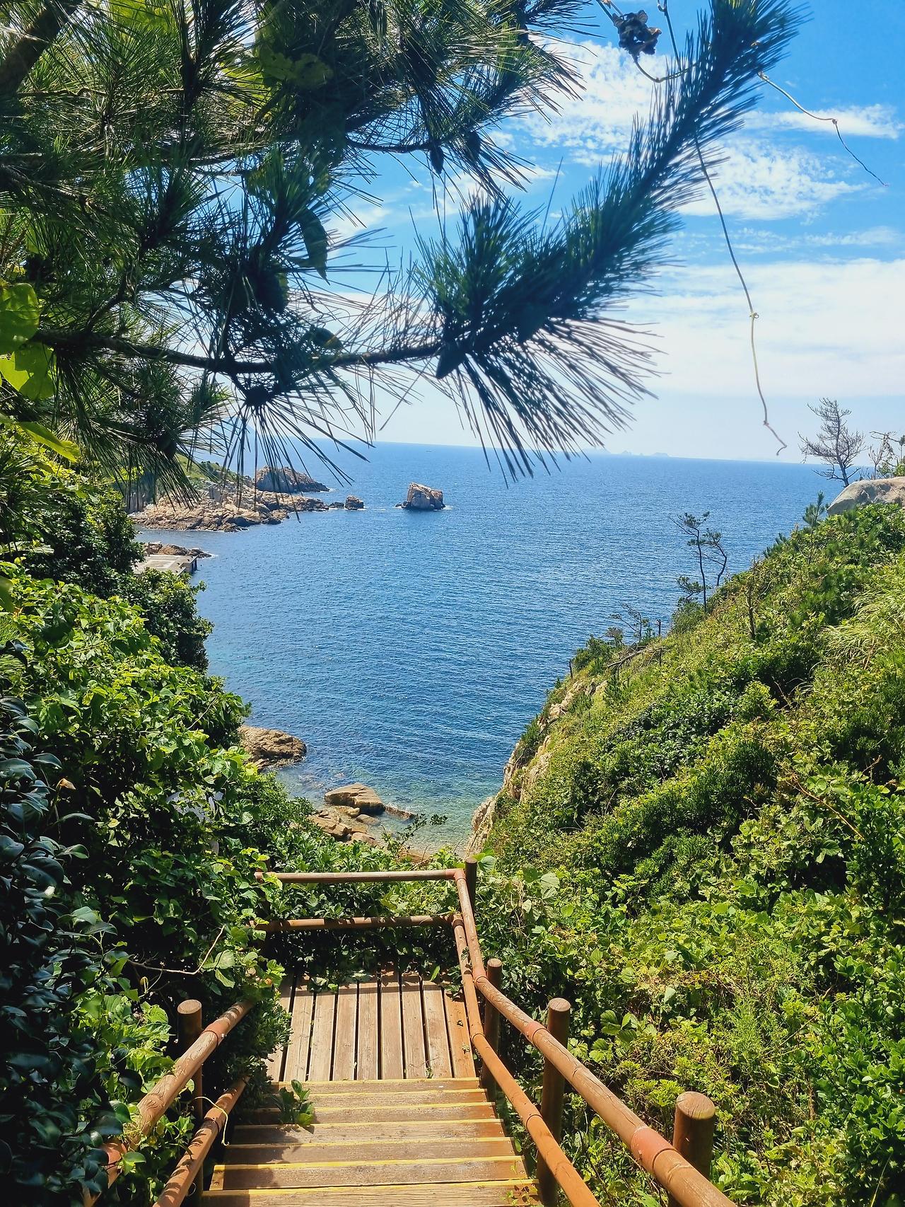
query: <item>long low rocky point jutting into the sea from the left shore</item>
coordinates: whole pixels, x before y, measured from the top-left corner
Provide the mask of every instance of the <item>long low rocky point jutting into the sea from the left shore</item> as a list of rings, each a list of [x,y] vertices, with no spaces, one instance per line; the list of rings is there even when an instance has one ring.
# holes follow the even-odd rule
[[[279,524],[293,512],[326,512],[320,498],[291,500],[282,495],[256,491],[246,486],[240,495],[230,485],[210,485],[197,503],[185,503],[173,497],[151,503],[135,517],[139,524],[176,531],[238,532],[256,524]]]

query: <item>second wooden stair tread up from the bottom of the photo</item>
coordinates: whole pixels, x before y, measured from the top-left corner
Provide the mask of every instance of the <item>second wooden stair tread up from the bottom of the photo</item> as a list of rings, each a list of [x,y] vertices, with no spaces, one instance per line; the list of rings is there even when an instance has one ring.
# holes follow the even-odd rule
[[[300,1186],[436,1185],[438,1182],[495,1182],[525,1178],[521,1158],[478,1156],[453,1161],[352,1161],[296,1165],[218,1166],[212,1190],[294,1189]],[[467,1201],[467,1200],[466,1200]]]

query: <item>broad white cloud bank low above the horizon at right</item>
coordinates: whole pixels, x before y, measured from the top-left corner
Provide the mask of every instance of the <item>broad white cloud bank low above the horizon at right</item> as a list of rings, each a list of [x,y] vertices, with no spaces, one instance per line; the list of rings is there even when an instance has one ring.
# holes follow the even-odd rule
[[[761,263],[746,276],[767,398],[901,392],[905,258]],[[659,287],[630,308],[656,336],[656,393],[754,397],[748,309],[731,266],[671,272]]]

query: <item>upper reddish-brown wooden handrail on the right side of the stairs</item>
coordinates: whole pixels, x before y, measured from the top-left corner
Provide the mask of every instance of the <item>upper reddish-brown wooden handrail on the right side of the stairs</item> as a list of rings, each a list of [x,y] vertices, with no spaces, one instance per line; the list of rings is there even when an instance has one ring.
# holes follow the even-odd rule
[[[595,1114],[617,1133],[637,1164],[667,1191],[672,1202],[677,1203],[678,1207],[735,1207],[731,1199],[728,1199],[722,1190],[713,1185],[710,1178],[687,1161],[664,1136],[638,1118],[600,1078],[595,1077],[567,1048],[560,1044],[543,1024],[532,1019],[531,1015],[515,1005],[502,990],[496,989],[490,982],[484,970],[484,958],[465,870],[456,869],[455,879],[462,916],[461,923],[459,920],[454,922],[454,934],[457,940],[463,975],[467,970],[465,964],[467,954],[471,978],[477,992],[549,1060],[554,1068],[559,1069]],[[466,1007],[467,1001],[466,996]],[[568,1191],[562,1185],[556,1168],[553,1166],[550,1168],[568,1197]],[[570,1199],[570,1201],[573,1200]]]

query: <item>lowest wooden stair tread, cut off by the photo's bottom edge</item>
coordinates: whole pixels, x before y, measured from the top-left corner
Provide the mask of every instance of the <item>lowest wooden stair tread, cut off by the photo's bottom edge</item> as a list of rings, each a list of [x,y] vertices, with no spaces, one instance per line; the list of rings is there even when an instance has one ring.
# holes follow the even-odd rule
[[[537,1193],[524,1179],[433,1185],[326,1186],[311,1190],[209,1190],[217,1207],[533,1207]]]

